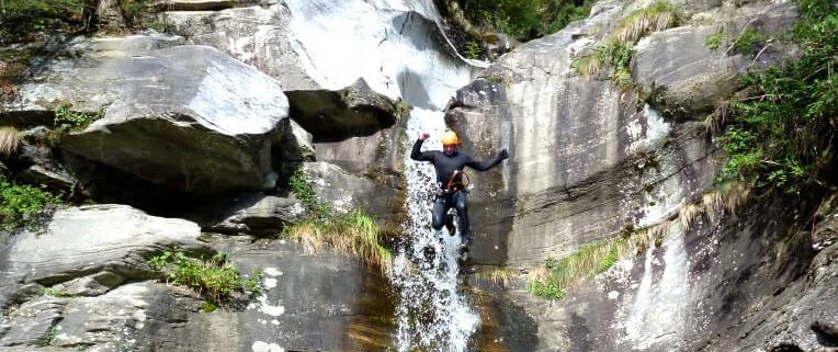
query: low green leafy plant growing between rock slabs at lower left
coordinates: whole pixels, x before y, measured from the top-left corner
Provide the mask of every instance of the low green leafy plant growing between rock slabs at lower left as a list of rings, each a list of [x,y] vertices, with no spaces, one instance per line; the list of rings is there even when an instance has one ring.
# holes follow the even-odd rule
[[[183,285],[206,297],[212,306],[217,306],[234,297],[236,293],[252,296],[262,294],[262,274],[252,273],[242,277],[226,256],[215,254],[208,260],[186,257],[183,251],[172,248],[148,260],[167,283]]]

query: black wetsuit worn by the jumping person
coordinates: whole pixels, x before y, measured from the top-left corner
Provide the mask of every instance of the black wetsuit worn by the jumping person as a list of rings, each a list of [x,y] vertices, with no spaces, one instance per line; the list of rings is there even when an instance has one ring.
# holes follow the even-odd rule
[[[460,219],[460,224],[457,224],[460,234],[463,236],[463,242],[468,246],[472,242],[472,235],[468,225],[468,209],[465,205],[467,190],[463,188],[463,174],[461,172],[465,167],[478,171],[489,170],[507,158],[506,150],[501,151],[495,160],[479,161],[467,154],[456,150],[450,156],[440,150],[420,151],[422,143],[423,140],[421,139],[416,140],[414,149],[410,151],[410,159],[430,161],[437,170],[437,186],[440,188],[440,192],[433,202],[431,226],[435,230],[441,229],[445,225],[445,214],[448,214],[451,207],[454,207]],[[454,172],[456,172],[456,175]]]

